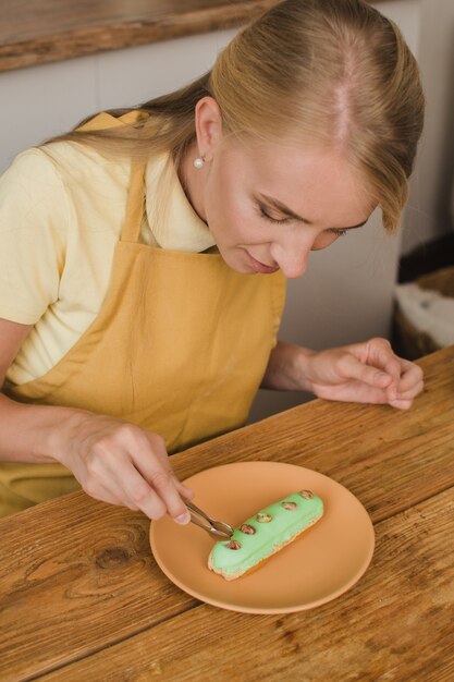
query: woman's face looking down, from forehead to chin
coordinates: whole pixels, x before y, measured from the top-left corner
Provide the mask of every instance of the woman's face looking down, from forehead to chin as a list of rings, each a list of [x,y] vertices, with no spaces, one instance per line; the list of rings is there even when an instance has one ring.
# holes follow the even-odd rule
[[[335,151],[222,139],[201,169],[199,212],[225,263],[246,275],[304,275],[309,252],[363,226],[372,202]]]

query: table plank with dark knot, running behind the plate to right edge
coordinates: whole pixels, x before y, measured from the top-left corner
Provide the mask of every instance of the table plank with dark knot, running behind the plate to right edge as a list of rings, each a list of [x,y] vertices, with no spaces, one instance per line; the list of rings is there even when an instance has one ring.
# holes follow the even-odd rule
[[[348,487],[375,522],[386,519],[454,485],[454,349],[421,364],[427,389],[407,413],[314,401],[172,461],[181,476],[241,460],[296,463]],[[52,670],[197,604],[158,570],[146,519],[82,492],[0,520],[0,537],[2,682]]]

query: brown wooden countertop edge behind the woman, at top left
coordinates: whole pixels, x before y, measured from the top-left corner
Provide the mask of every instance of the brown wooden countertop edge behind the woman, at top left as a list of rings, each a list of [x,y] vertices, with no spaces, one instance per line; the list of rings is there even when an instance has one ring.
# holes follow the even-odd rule
[[[3,0],[0,71],[225,29],[277,0]]]

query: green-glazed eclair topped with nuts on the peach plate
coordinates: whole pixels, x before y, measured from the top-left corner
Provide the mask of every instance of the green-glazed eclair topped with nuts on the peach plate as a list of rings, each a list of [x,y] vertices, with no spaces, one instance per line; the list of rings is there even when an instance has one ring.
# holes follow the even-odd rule
[[[310,490],[290,495],[246,519],[230,540],[217,543],[208,557],[208,568],[226,581],[245,575],[293,543],[322,515],[323,502]]]

